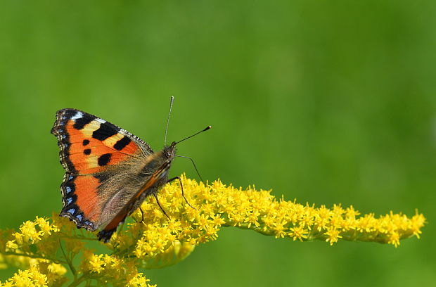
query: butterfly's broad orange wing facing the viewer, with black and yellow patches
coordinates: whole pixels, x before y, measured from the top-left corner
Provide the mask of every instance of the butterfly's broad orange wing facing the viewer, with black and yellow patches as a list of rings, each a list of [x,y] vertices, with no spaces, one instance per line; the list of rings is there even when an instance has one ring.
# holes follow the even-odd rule
[[[126,130],[70,108],[58,110],[51,133],[58,138],[66,171],[60,216],[94,231],[112,220],[141,187],[138,174],[153,151]]]

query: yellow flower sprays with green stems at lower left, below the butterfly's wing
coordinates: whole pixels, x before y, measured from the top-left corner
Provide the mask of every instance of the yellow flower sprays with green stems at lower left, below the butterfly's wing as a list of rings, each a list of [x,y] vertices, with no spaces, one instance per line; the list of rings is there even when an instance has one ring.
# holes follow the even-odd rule
[[[84,241],[96,241],[96,238],[58,215],[53,215],[53,223],[37,217],[22,224],[20,232],[1,232],[0,264],[20,270],[11,279],[0,282],[0,286],[62,286],[68,281],[65,267],[69,267],[75,285],[110,281],[113,286],[153,287],[146,276],[137,271],[135,260],[96,255]],[[82,260],[76,269],[73,260],[79,254]]]

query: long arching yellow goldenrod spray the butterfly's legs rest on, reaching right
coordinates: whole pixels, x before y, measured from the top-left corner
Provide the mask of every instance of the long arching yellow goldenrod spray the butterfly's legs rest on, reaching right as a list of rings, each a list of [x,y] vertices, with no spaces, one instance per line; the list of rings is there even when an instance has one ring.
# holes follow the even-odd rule
[[[299,241],[322,240],[330,243],[340,238],[347,241],[390,243],[397,247],[399,240],[421,234],[425,223],[422,214],[394,214],[376,218],[373,214],[359,216],[353,206],[334,205],[316,208],[281,198],[276,200],[271,191],[242,190],[214,181],[205,186],[182,177],[186,198],[181,197],[177,182],[165,186],[159,193],[162,210],[156,208],[154,198],[143,203],[126,231],[119,232],[111,241],[115,250],[136,242],[135,255],[154,257],[164,252],[174,241],[198,245],[217,238],[220,227],[252,229],[276,238]]]

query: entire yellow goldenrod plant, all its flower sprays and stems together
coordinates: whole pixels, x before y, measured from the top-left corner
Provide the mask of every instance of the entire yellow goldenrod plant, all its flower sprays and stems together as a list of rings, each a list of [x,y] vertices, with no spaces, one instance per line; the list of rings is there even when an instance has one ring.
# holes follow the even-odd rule
[[[53,215],[37,217],[20,227],[20,232],[0,231],[0,267],[20,268],[2,286],[72,286],[80,283],[113,286],[152,286],[141,269],[176,264],[190,255],[195,245],[216,240],[221,227],[252,229],[293,241],[322,240],[330,245],[339,239],[389,243],[397,247],[404,238],[419,238],[425,217],[390,212],[375,217],[360,215],[352,206],[316,208],[294,201],[276,199],[271,191],[236,189],[221,181],[198,184],[182,176],[185,196],[178,182],[167,184],[158,194],[160,210],[150,197],[113,235],[106,248],[110,255],[96,254],[86,242],[98,242],[94,234],[76,229],[68,219]],[[82,257],[77,260],[77,257]],[[79,262],[75,267],[74,262]],[[23,271],[24,270],[24,271]],[[70,276],[70,277],[71,277]]]

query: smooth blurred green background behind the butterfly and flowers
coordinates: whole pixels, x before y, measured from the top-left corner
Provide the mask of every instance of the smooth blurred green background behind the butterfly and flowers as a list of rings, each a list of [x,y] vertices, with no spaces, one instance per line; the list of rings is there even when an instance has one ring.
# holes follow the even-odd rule
[[[1,1],[0,228],[60,211],[56,110],[79,108],[205,179],[362,213],[423,212],[420,240],[276,240],[222,229],[158,286],[436,281],[435,1]],[[191,162],[172,174],[196,178]],[[0,280],[11,270],[0,271]]]

